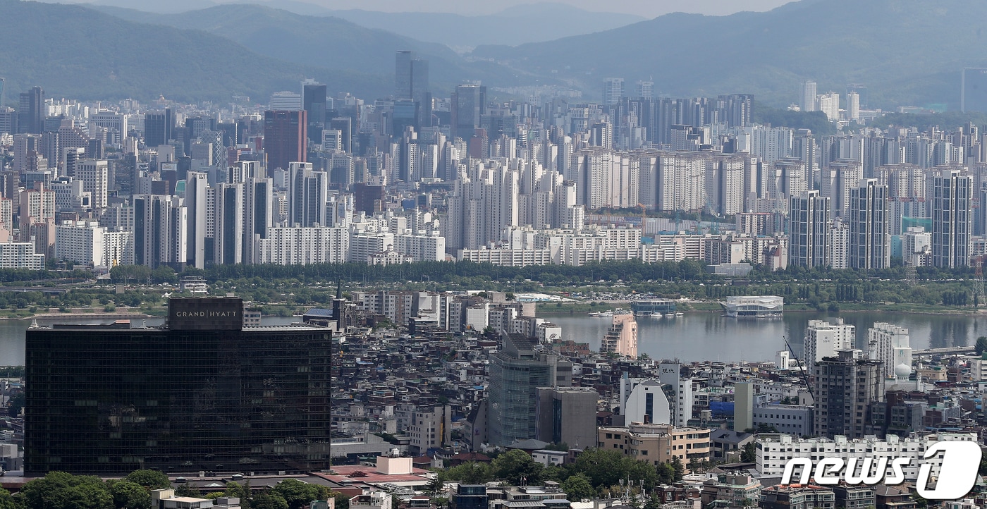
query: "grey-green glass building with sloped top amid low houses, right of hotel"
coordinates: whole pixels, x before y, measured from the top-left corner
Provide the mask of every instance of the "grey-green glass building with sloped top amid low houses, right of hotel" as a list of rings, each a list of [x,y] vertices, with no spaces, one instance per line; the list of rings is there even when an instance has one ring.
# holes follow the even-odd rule
[[[487,430],[490,443],[506,447],[538,433],[538,389],[570,387],[572,364],[534,339],[503,333],[503,349],[491,355]]]

